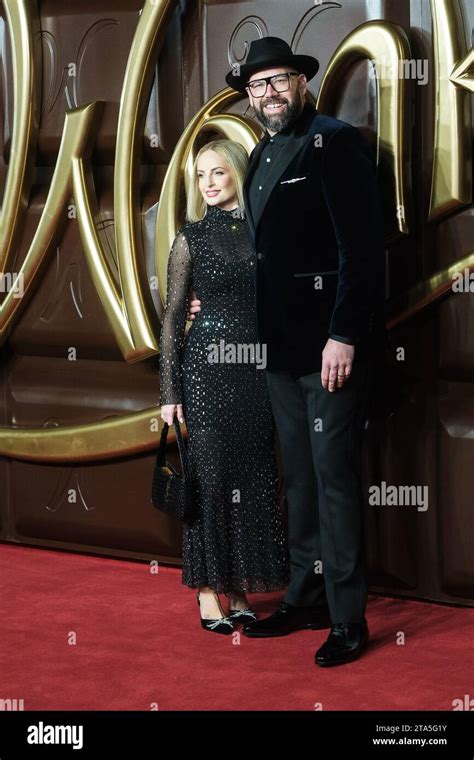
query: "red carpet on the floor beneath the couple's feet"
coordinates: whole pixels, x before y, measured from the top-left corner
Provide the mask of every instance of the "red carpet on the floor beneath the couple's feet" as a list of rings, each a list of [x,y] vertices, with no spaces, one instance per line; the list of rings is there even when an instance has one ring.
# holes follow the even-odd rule
[[[0,697],[25,710],[452,710],[472,694],[471,609],[371,596],[367,653],[324,670],[327,631],[203,631],[178,569],[5,544],[0,566]],[[257,613],[279,598],[250,596]]]

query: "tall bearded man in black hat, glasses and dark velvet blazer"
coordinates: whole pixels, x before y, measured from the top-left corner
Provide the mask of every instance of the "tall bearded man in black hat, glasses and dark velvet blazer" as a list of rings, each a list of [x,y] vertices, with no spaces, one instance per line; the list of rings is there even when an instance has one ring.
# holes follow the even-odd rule
[[[244,633],[327,627],[329,611],[331,631],[315,655],[325,667],[356,659],[369,637],[361,451],[383,346],[384,248],[371,149],[357,129],[305,102],[318,68],[315,58],[265,37],[226,81],[247,92],[266,128],[244,194],[291,564],[279,608]]]

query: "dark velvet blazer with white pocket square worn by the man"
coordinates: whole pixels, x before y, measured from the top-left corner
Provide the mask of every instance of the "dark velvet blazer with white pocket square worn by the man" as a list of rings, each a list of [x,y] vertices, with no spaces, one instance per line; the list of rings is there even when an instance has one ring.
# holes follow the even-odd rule
[[[354,361],[385,340],[382,212],[372,149],[359,131],[306,103],[271,169],[261,213],[245,206],[257,253],[259,340],[268,369],[321,370],[329,337],[353,343]]]

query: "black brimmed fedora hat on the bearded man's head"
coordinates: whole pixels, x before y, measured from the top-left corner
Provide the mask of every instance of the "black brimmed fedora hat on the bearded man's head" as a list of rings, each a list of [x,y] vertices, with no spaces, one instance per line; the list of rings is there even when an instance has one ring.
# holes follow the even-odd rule
[[[234,90],[245,92],[245,83],[255,71],[272,66],[291,66],[306,79],[312,79],[319,69],[319,61],[311,55],[295,55],[290,46],[280,37],[262,37],[250,43],[250,50],[244,64],[235,64],[225,81]]]

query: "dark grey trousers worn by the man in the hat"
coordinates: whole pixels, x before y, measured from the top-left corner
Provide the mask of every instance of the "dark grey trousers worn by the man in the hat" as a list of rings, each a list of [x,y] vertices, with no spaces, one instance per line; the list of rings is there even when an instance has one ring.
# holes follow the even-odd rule
[[[288,503],[285,601],[327,604],[333,623],[360,622],[367,603],[361,455],[372,362],[354,362],[349,379],[333,393],[322,387],[320,372],[295,379],[266,370],[266,378]]]

